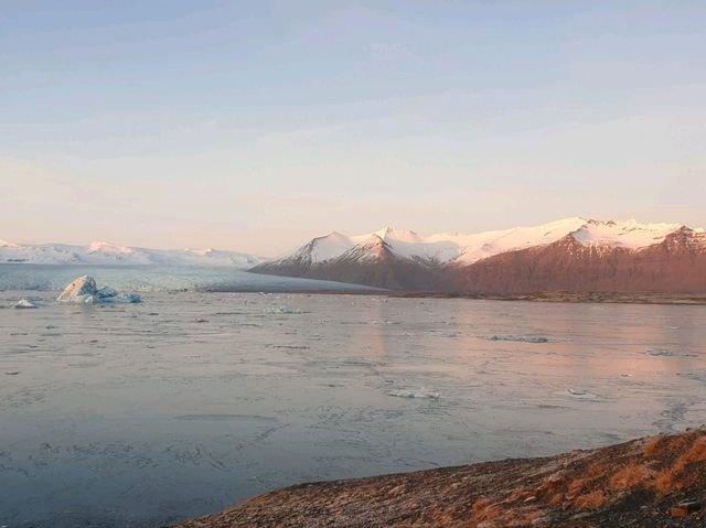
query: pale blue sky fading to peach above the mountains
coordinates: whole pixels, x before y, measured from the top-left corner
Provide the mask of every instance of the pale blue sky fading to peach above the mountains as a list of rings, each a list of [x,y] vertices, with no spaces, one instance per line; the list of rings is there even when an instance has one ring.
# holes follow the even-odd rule
[[[706,227],[703,1],[0,1],[0,238]]]

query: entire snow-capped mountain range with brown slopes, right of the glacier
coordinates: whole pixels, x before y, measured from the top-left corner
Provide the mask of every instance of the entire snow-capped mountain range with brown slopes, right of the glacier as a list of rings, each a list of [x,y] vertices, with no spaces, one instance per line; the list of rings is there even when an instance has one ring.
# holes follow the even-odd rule
[[[668,270],[678,268],[682,276],[689,277],[678,283],[678,291],[706,291],[704,239],[703,229],[680,224],[578,217],[470,235],[422,236],[392,228],[356,236],[334,231],[253,271],[392,289],[511,293],[663,290],[677,287],[678,281],[670,277],[676,271]],[[686,252],[675,251],[674,244],[683,245]],[[652,256],[651,261],[645,260],[646,255]],[[624,277],[617,273],[607,263],[611,259],[631,271]],[[566,279],[558,279],[564,276]],[[638,280],[648,276],[651,279]]]

